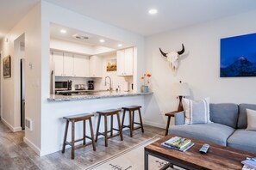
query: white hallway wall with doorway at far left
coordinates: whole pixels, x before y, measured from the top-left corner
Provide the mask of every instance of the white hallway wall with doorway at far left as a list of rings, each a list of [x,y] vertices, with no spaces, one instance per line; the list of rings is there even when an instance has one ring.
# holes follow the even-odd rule
[[[26,112],[27,117],[34,120],[34,131],[37,131],[31,143],[38,148],[41,146],[41,5],[37,5],[13,27],[3,40],[3,56],[11,56],[11,77],[3,80],[3,123],[12,131],[21,130],[20,112],[20,54],[19,40],[25,33],[26,44]],[[8,40],[6,40],[8,39]],[[17,47],[17,48],[16,48]],[[28,64],[33,64],[33,69],[28,69]],[[1,74],[2,76],[2,74]],[[26,137],[30,137],[26,130]]]

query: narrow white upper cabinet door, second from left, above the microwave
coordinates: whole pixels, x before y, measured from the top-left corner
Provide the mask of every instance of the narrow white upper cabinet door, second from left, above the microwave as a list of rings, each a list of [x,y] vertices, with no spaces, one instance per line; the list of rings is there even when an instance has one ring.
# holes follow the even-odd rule
[[[63,65],[64,65],[64,76],[73,76],[73,56],[71,53],[64,53]]]

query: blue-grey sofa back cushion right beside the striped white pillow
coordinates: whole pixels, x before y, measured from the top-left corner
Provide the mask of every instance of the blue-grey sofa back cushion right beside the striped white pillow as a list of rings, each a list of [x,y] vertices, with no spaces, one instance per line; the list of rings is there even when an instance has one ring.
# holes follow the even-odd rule
[[[209,104],[210,120],[214,123],[225,124],[236,128],[238,105],[234,103]]]

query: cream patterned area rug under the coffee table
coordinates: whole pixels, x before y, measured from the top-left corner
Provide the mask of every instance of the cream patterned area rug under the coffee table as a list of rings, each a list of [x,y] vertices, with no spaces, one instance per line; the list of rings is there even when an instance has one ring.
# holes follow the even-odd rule
[[[121,153],[113,155],[103,161],[85,168],[85,170],[142,170],[144,169],[144,147],[150,143],[157,141],[160,137],[153,137],[143,143],[139,143],[132,148],[126,149]],[[167,161],[160,160],[159,158],[148,156],[149,170],[157,170],[164,167]],[[179,169],[179,168],[171,168]]]

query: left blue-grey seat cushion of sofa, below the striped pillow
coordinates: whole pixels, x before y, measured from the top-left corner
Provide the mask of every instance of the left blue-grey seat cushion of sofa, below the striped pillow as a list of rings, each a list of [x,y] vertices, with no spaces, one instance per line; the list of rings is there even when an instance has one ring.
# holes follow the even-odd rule
[[[226,146],[228,137],[234,132],[232,127],[223,124],[173,125],[169,132],[177,136],[190,137],[209,143]]]

